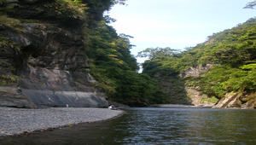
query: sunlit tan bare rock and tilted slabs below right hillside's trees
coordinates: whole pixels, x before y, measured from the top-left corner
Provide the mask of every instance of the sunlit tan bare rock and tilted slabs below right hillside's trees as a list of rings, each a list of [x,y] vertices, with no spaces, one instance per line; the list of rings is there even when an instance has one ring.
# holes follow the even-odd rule
[[[186,69],[183,71],[183,73],[180,73],[179,76],[186,82],[184,85],[184,92],[186,92],[186,96],[189,97],[191,104],[195,106],[212,108],[256,108],[256,95],[254,93],[243,94],[238,92],[230,92],[220,100],[217,100],[217,98],[214,98],[214,96],[209,98],[208,96],[204,95],[203,90],[201,90],[199,85],[193,87],[189,85],[191,80],[186,78],[204,77],[203,73],[209,71],[212,66],[212,64],[207,64],[199,65],[197,67],[189,67],[189,69]]]

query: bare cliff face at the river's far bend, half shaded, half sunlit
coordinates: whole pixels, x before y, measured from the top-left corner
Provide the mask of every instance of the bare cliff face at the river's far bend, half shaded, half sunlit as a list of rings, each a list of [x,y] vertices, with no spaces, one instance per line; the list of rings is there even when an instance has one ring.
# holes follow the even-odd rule
[[[161,77],[160,74],[154,75],[154,79],[158,80],[160,89],[170,96],[170,103],[194,105],[198,107],[212,107],[214,102],[201,93],[199,86],[189,86],[189,80],[186,78],[201,77],[203,72],[209,70],[212,64],[199,65],[197,67],[189,67],[178,76]],[[217,102],[217,99],[216,99]]]

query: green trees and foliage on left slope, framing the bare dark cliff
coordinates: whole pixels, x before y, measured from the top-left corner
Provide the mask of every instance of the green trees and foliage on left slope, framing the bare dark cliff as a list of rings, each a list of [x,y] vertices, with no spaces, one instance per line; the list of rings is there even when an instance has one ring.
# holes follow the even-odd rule
[[[94,85],[107,93],[110,100],[138,106],[150,102],[163,102],[163,95],[158,90],[157,83],[146,74],[139,74],[137,60],[131,55],[129,35],[118,34],[112,26],[106,25],[114,21],[109,16],[102,18],[105,10],[111,9],[114,4],[125,4],[125,0],[54,0],[35,1],[40,7],[32,7],[36,13],[50,11],[67,20],[76,19],[82,26],[84,36],[85,53],[90,58],[90,73],[96,78]],[[4,6],[0,9],[0,23],[16,31],[22,30],[23,22],[38,22],[38,20],[24,20],[17,9],[9,9]],[[27,3],[29,4],[29,3]],[[2,6],[2,5],[1,5]],[[19,18],[9,18],[16,15]],[[23,19],[22,19],[23,18]],[[69,19],[70,18],[70,19]],[[33,18],[34,19],[34,18]],[[106,20],[106,21],[104,21]],[[9,42],[8,38],[0,38],[1,50],[20,50],[20,45]],[[11,69],[10,62],[8,67]],[[1,65],[5,65],[5,62]],[[0,84],[13,84],[18,78],[11,74],[12,70],[0,76]],[[78,80],[80,81],[80,80]]]

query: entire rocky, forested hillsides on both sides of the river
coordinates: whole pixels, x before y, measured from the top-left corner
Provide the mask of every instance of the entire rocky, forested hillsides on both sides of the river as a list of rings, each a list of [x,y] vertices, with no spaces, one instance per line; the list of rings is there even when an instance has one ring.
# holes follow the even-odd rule
[[[132,37],[103,16],[114,4],[0,0],[0,107],[256,106],[255,19],[185,51],[145,49],[137,73]]]

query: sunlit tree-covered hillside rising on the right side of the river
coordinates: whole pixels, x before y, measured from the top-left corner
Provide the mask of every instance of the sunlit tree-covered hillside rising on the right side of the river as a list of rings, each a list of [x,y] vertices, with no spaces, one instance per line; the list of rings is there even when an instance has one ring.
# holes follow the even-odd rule
[[[182,52],[148,48],[138,56],[149,57],[143,63],[143,73],[158,80],[160,88],[169,94],[166,102],[189,103],[193,99],[190,90],[196,90],[201,101],[221,100],[231,93],[237,96],[234,107],[255,107],[255,32],[256,19],[252,18],[213,33],[206,42]]]

